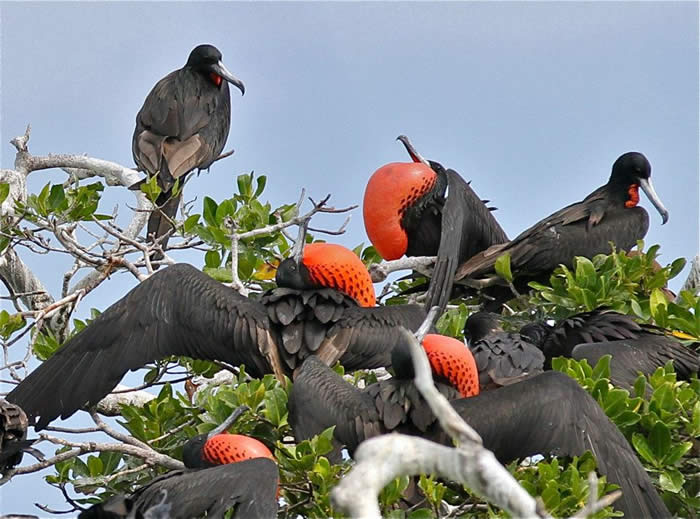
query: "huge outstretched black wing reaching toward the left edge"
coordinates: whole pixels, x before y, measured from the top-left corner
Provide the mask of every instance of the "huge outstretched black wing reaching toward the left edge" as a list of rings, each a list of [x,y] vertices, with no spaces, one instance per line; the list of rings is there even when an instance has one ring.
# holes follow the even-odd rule
[[[186,264],[135,287],[22,381],[7,400],[44,428],[99,402],[128,370],[171,355],[281,374],[265,309]]]

